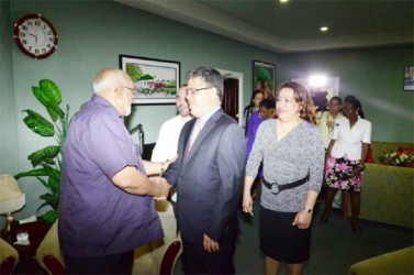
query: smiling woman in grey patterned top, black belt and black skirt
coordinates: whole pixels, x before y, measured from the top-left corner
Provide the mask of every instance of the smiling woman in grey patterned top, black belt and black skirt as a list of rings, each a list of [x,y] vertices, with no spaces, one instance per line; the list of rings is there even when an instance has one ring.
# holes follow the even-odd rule
[[[277,274],[281,262],[288,274],[302,274],[310,257],[313,207],[321,189],[324,144],[315,125],[307,89],[281,85],[277,119],[264,121],[247,161],[243,211],[253,216],[251,185],[264,163],[260,198],[260,249],[265,274]]]

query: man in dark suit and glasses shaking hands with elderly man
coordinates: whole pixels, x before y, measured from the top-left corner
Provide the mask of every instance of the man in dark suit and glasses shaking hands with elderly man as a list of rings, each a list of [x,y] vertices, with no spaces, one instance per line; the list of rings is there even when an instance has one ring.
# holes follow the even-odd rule
[[[176,215],[186,274],[234,274],[246,142],[221,109],[223,77],[213,68],[187,74],[193,120],[182,128],[178,160],[163,175],[177,187]]]

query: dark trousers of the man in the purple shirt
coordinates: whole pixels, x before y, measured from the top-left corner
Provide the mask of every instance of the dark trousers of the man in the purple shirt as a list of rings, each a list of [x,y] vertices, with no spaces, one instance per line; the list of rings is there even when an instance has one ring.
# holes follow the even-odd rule
[[[131,274],[134,251],[101,257],[70,257],[65,255],[67,274]]]

